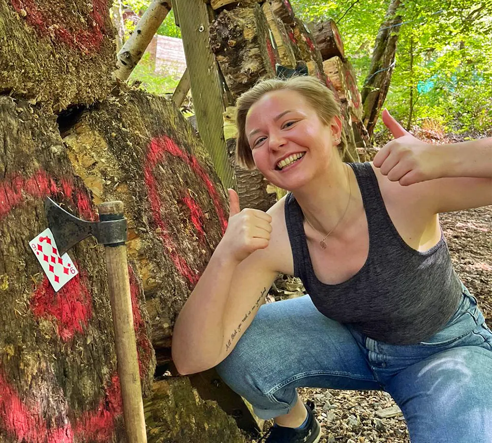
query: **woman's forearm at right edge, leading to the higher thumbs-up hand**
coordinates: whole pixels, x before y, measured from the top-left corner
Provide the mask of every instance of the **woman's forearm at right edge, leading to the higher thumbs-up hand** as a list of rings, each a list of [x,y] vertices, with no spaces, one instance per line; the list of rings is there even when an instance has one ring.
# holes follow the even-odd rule
[[[492,178],[492,137],[440,145],[442,177]]]

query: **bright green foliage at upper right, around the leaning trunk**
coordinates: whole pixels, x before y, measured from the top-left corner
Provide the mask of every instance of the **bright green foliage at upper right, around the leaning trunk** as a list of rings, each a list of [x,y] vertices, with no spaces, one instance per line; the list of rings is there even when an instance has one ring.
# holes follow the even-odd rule
[[[307,21],[334,19],[359,87],[389,0],[292,0]],[[492,2],[402,0],[385,106],[406,126],[431,118],[454,131],[492,128]],[[411,99],[411,95],[413,99]],[[376,130],[381,129],[378,124]]]

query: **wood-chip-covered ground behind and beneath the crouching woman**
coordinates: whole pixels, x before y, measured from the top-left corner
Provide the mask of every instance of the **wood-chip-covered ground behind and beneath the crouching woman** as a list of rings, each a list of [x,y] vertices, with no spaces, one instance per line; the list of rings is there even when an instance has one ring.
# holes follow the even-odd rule
[[[492,206],[439,217],[455,270],[492,326]],[[304,402],[311,400],[316,405],[314,414],[323,434],[320,443],[410,442],[401,412],[386,392],[315,388],[298,392]],[[383,418],[385,413],[392,416]],[[272,423],[267,420],[263,431]],[[258,437],[246,439],[258,442]]]

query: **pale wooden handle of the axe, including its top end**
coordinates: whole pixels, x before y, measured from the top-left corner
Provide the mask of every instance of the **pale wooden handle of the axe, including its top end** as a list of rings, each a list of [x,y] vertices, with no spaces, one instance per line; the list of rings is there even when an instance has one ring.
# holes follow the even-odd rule
[[[98,206],[98,210],[100,219],[103,220],[123,218],[123,203],[121,201],[103,203]],[[105,245],[104,251],[128,442],[147,443],[137,345],[133,328],[126,246],[124,244]]]

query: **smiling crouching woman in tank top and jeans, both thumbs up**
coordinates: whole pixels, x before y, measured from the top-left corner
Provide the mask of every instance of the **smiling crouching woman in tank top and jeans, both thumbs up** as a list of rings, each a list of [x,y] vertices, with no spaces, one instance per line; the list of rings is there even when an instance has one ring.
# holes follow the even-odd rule
[[[237,158],[290,192],[264,213],[240,211],[229,190],[227,230],[172,350],[180,373],[218,365],[275,418],[267,442],[319,441],[299,386],[384,389],[413,443],[492,442],[492,332],[437,215],[492,204],[492,140],[433,146],[387,111],[383,121],[397,138],[348,165],[337,103],[318,80],[267,80],[238,100]],[[278,273],[309,295],[261,306]]]

